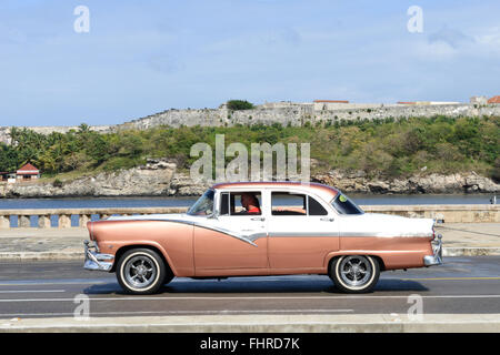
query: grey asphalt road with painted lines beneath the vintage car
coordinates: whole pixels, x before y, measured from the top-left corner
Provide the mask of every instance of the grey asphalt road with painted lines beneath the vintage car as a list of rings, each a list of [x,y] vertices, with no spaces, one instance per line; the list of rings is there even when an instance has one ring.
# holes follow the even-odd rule
[[[500,313],[500,256],[447,257],[444,265],[384,272],[373,293],[340,293],[328,276],[174,278],[160,294],[130,296],[114,274],[81,262],[0,263],[0,318],[73,316],[77,295],[90,316],[223,314],[406,315],[421,296],[428,314]]]

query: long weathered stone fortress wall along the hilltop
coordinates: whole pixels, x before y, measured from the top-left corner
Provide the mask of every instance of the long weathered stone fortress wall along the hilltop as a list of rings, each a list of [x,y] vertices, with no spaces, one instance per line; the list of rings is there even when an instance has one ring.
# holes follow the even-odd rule
[[[91,130],[101,133],[120,130],[147,130],[158,125],[179,128],[193,126],[232,126],[236,124],[273,124],[303,125],[307,122],[334,123],[348,120],[376,120],[386,118],[434,116],[493,116],[500,115],[499,97],[488,100],[473,97],[470,103],[460,102],[398,102],[398,103],[350,103],[349,101],[316,100],[313,102],[270,102],[256,105],[252,110],[232,111],[226,104],[218,109],[170,109],[146,118],[116,125],[93,125]],[[78,126],[26,126],[39,133],[66,133]],[[22,128],[20,128],[22,129]],[[0,142],[10,143],[10,126],[0,126]]]

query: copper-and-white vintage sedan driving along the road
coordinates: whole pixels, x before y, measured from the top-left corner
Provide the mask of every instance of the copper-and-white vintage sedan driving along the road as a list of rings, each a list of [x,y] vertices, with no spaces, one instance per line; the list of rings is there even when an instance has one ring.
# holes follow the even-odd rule
[[[174,276],[329,275],[370,292],[380,272],[441,264],[431,219],[364,213],[339,190],[293,182],[220,183],[184,214],[89,222],[84,268],[116,272],[127,293]]]

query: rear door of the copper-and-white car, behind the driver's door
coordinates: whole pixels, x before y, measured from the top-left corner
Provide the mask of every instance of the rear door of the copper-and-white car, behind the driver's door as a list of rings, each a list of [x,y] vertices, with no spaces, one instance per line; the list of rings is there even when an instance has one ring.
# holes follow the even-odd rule
[[[271,192],[268,219],[270,273],[317,272],[339,250],[339,221],[328,204],[303,192]]]

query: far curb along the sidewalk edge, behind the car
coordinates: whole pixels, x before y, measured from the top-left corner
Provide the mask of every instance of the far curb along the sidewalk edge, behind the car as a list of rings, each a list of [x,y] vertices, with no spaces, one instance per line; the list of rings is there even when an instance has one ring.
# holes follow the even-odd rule
[[[443,247],[443,256],[487,256],[487,255],[500,255],[500,247],[482,247],[482,246],[469,246],[469,247]],[[0,253],[0,261],[58,261],[58,260],[83,260],[82,252],[20,252]]]

